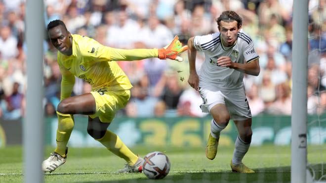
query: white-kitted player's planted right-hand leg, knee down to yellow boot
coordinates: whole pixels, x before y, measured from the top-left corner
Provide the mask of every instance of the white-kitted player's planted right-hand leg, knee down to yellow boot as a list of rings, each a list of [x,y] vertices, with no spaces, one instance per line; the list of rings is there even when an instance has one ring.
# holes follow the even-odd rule
[[[234,172],[241,173],[254,173],[253,170],[246,167],[242,162],[244,155],[248,151],[251,142],[251,118],[245,120],[234,121],[236,124],[239,135],[236,140],[235,150],[231,161],[231,169]]]

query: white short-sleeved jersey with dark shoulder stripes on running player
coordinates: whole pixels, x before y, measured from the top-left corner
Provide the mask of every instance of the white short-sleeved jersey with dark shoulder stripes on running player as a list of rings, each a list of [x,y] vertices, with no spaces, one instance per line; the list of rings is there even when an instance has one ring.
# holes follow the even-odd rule
[[[218,58],[227,56],[237,63],[250,62],[259,58],[253,47],[252,39],[243,30],[239,31],[237,42],[232,47],[222,45],[220,32],[195,36],[194,47],[205,54],[205,61],[199,73],[199,87],[213,87],[214,90],[219,91],[243,90],[244,73],[219,66]]]

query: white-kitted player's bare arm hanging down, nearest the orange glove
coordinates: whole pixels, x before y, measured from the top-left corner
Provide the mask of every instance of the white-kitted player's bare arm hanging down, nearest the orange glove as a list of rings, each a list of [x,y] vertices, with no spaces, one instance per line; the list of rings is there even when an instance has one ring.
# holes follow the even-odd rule
[[[196,54],[197,50],[194,47],[194,37],[191,37],[188,40],[188,60],[189,60],[189,85],[194,88],[196,91],[199,90],[199,77],[196,71]]]

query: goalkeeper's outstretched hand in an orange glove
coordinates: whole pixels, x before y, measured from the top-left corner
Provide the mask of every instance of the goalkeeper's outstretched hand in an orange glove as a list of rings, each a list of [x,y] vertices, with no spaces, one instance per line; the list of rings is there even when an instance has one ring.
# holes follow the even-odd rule
[[[182,47],[182,43],[180,43],[179,37],[176,35],[169,45],[159,49],[159,59],[167,58],[176,61],[183,61],[183,59],[177,55],[186,51],[187,49],[188,46]]]

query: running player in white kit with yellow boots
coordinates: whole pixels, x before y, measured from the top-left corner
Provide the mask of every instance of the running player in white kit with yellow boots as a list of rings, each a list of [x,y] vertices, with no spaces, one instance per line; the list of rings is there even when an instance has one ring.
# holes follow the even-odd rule
[[[251,112],[244,93],[244,74],[257,76],[259,56],[253,41],[242,29],[242,18],[234,11],[224,11],[216,19],[219,32],[194,36],[188,40],[190,76],[188,83],[199,91],[203,112],[213,117],[206,147],[206,157],[214,159],[220,132],[233,120],[238,138],[231,161],[234,172],[254,173],[242,163],[248,151],[252,130]],[[204,52],[205,61],[197,74],[197,51]]]

